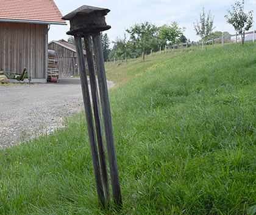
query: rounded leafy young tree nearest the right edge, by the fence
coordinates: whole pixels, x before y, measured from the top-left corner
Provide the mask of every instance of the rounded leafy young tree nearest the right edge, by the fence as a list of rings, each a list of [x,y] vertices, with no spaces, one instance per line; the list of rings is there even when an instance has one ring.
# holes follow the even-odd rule
[[[236,1],[235,4],[232,5],[232,11],[227,10],[229,15],[225,15],[224,17],[227,19],[227,23],[232,24],[236,32],[238,32],[242,37],[242,46],[244,46],[244,32],[249,30],[252,27],[253,18],[252,13],[253,10],[250,10],[248,13],[244,13],[244,0],[240,3]]]

